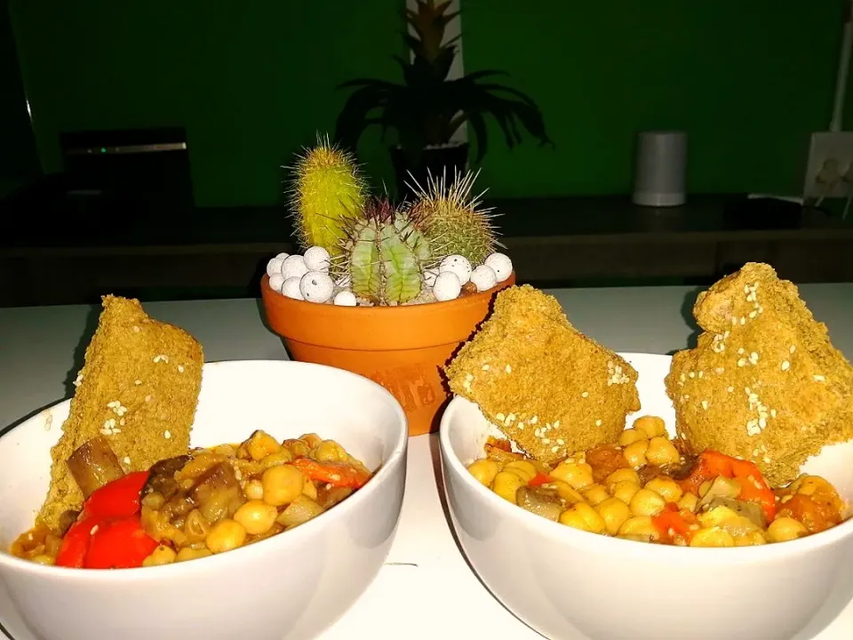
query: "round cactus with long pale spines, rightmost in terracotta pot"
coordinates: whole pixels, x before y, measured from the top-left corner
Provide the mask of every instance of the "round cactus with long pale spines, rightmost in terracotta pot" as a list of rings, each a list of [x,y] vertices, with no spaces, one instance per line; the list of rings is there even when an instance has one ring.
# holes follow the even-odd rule
[[[426,188],[413,185],[418,200],[413,205],[419,229],[430,242],[441,242],[447,255],[465,256],[472,265],[482,264],[501,246],[491,224],[494,214],[481,207],[483,193],[472,196],[477,173],[455,173],[452,182],[446,176],[430,176]]]

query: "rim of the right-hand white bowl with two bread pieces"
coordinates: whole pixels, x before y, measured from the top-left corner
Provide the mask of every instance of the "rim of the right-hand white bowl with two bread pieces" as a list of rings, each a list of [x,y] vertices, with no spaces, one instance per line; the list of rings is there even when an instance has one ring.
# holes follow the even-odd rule
[[[620,352],[618,356],[629,359],[631,356],[664,356],[663,354],[648,354],[641,352]],[[666,356],[671,357],[671,356]],[[439,427],[439,449],[442,455],[442,468],[450,470],[451,475],[457,476],[458,482],[472,492],[478,500],[494,511],[499,519],[509,519],[531,535],[544,536],[559,544],[583,548],[593,553],[617,553],[628,556],[652,556],[661,562],[695,562],[696,564],[719,564],[729,560],[736,564],[760,563],[787,556],[805,553],[818,548],[829,547],[844,539],[853,539],[853,516],[849,516],[840,524],[823,532],[813,533],[798,540],[787,540],[784,543],[769,543],[753,547],[679,547],[675,545],[651,544],[635,540],[623,540],[609,535],[583,532],[564,524],[548,520],[542,516],[530,513],[514,504],[510,504],[488,487],[483,486],[468,473],[465,464],[459,459],[450,443],[451,433],[458,431],[461,419],[458,414],[466,404],[474,404],[464,397],[454,395],[444,410]],[[450,494],[444,483],[444,493],[450,507]],[[452,508],[450,507],[451,512]],[[454,527],[456,524],[454,524]]]

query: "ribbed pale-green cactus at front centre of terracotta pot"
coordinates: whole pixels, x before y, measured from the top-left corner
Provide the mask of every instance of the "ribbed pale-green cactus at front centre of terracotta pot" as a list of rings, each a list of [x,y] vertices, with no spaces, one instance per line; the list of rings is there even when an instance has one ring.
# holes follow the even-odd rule
[[[347,221],[347,237],[335,261],[336,276],[348,277],[355,295],[377,305],[417,298],[424,270],[440,261],[418,230],[411,212],[387,200],[371,200],[358,220]]]

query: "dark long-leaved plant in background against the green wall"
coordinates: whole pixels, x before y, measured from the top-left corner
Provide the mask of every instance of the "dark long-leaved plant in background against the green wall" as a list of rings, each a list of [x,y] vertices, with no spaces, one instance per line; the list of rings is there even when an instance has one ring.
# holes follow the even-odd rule
[[[480,162],[488,146],[486,116],[494,118],[510,148],[521,142],[522,128],[540,144],[551,144],[536,103],[525,93],[493,81],[506,73],[482,70],[447,79],[457,52],[457,38],[444,42],[445,29],[457,15],[449,7],[449,1],[419,0],[417,11],[407,10],[406,22],[416,36],[403,36],[413,54],[411,61],[395,56],[403,70],[402,84],[373,78],[339,84],[339,89],[354,90],[338,117],[336,138],[342,144],[355,149],[363,132],[379,125],[383,139],[388,131],[395,131],[406,155],[417,159],[424,148],[447,145],[467,122],[476,140],[476,162]]]

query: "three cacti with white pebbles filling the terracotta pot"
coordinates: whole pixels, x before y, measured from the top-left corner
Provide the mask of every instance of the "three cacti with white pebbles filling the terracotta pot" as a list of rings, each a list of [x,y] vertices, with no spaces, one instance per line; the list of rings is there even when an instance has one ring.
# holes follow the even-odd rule
[[[477,174],[429,176],[414,202],[369,196],[352,156],[318,138],[294,167],[291,204],[304,255],[267,264],[286,297],[393,307],[483,292],[512,272],[490,209],[473,195]],[[416,183],[417,184],[417,183]]]

